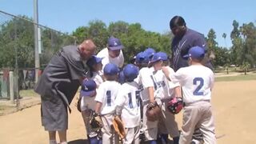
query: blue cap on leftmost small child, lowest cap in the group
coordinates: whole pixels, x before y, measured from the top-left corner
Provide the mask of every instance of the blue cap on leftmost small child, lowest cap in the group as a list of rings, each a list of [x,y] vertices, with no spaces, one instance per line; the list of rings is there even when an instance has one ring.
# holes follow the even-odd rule
[[[80,95],[91,96],[92,94],[94,94],[96,88],[97,88],[96,82],[94,82],[94,80],[92,79],[86,78],[82,81]]]

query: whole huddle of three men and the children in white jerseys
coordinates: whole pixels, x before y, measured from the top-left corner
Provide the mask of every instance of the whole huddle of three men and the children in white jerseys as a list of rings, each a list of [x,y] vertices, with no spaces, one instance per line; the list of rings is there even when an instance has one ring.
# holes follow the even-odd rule
[[[124,65],[122,43],[108,38],[97,55],[90,39],[64,46],[43,71],[35,91],[42,99],[42,126],[50,144],[66,144],[68,110],[81,86],[81,111],[90,144],[216,143],[210,104],[214,73],[202,34],[170,20],[172,57],[145,48]],[[170,67],[172,62],[172,67]],[[82,85],[81,85],[82,84]],[[175,114],[183,110],[182,129]]]

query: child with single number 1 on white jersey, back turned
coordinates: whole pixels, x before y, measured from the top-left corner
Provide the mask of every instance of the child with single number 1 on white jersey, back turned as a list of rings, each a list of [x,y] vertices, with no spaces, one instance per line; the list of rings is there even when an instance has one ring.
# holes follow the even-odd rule
[[[95,98],[96,114],[102,116],[102,142],[104,144],[108,143],[118,143],[118,134],[113,130],[112,123],[115,114],[115,98],[118,95],[118,90],[120,89],[120,84],[116,82],[118,79],[118,66],[113,63],[108,63],[103,69],[105,82],[98,87],[98,92]]]

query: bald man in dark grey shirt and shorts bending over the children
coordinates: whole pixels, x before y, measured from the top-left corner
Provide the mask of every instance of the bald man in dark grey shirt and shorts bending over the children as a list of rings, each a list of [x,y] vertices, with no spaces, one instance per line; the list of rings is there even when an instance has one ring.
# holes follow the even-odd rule
[[[92,40],[79,46],[64,46],[51,58],[43,70],[35,92],[41,95],[42,126],[49,132],[50,144],[56,144],[56,131],[60,143],[66,144],[70,103],[88,71],[86,60],[95,52]]]

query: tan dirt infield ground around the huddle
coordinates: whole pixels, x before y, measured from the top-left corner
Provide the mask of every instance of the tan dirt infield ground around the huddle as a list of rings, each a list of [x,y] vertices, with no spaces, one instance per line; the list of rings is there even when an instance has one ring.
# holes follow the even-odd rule
[[[254,143],[256,141],[256,81],[216,82],[212,97],[219,144]],[[74,100],[76,102],[76,100]],[[82,116],[71,104],[69,143],[82,143],[86,130]],[[182,114],[178,114],[179,126]],[[48,143],[48,135],[41,126],[40,106],[33,106],[0,117],[0,143]]]

